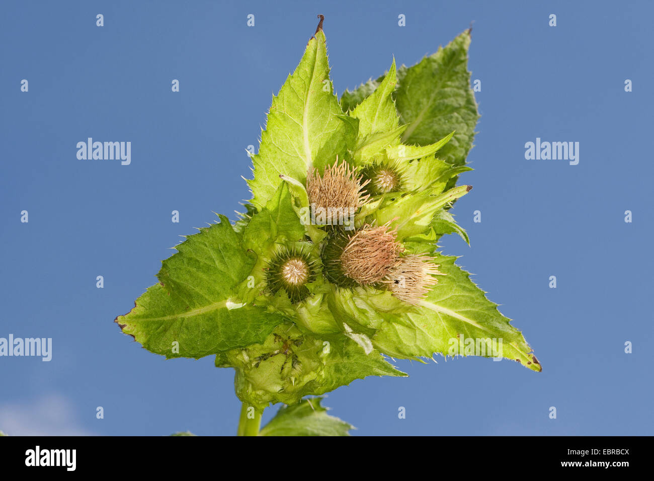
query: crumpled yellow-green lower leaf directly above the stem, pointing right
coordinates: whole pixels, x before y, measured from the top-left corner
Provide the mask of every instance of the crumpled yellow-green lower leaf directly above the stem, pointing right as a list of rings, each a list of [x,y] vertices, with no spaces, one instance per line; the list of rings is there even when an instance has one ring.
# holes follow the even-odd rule
[[[216,366],[235,368],[237,396],[258,409],[296,404],[366,376],[405,376],[342,334],[317,338],[293,324],[279,325],[262,344],[216,355]]]

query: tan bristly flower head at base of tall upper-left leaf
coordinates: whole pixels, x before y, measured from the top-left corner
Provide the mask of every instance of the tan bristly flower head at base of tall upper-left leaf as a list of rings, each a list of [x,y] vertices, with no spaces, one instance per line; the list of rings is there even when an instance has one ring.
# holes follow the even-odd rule
[[[334,165],[325,168],[322,175],[313,168],[307,174],[309,204],[314,212],[337,210],[353,215],[358,207],[368,202],[368,195],[362,192],[367,183],[362,183],[362,177],[356,175],[356,168],[349,166],[345,160],[339,164],[337,156]],[[330,220],[328,224],[335,224]]]

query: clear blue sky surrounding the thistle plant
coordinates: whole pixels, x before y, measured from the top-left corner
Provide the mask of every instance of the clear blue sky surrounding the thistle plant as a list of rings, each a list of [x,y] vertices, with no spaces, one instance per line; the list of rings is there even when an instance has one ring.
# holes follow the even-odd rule
[[[341,387],[324,402],[331,414],[358,435],[653,433],[651,3],[65,4],[0,7],[0,337],[53,343],[47,363],[0,357],[0,429],[235,433],[232,370],[211,357],[163,361],[113,319],[155,282],[179,236],[249,198],[245,149],[258,145],[271,96],[321,13],[339,94],[393,55],[413,65],[473,22],[481,119],[475,170],[461,181],[474,189],[453,209],[471,245],[441,245],[543,365],[538,374],[490,359],[401,361],[410,378]],[[131,164],[78,160],[87,137],[131,141]],[[579,164],[526,160],[536,137],[579,142]]]

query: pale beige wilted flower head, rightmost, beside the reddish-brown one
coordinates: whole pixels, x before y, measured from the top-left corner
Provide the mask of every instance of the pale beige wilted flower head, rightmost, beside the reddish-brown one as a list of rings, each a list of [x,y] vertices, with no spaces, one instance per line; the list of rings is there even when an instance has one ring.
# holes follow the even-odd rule
[[[439,272],[433,259],[424,255],[407,255],[390,268],[384,282],[398,299],[408,304],[417,305],[429,292],[430,287],[438,283],[434,276],[445,276]]]

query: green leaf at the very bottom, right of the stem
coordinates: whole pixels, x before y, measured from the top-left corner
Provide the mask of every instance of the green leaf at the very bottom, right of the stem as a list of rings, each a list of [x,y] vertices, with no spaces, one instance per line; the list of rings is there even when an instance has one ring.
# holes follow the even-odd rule
[[[321,401],[321,397],[315,397],[293,406],[282,406],[259,436],[349,436],[354,426],[329,416]]]

